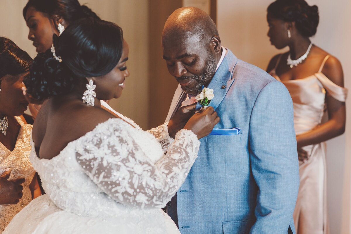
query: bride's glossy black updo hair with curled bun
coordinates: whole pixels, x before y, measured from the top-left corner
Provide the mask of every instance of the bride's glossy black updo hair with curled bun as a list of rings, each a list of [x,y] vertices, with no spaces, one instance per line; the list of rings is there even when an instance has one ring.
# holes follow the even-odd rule
[[[112,71],[121,58],[123,32],[112,22],[87,18],[70,24],[59,37],[54,34],[53,41],[62,62],[51,49],[39,53],[24,79],[27,93],[38,100],[69,93],[85,78]]]

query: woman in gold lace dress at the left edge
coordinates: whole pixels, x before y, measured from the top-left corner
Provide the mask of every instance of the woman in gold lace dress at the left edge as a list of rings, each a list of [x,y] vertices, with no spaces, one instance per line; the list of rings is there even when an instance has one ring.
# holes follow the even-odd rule
[[[22,116],[28,106],[22,81],[31,63],[25,51],[0,37],[0,233],[15,214],[41,194],[29,161],[32,125]]]

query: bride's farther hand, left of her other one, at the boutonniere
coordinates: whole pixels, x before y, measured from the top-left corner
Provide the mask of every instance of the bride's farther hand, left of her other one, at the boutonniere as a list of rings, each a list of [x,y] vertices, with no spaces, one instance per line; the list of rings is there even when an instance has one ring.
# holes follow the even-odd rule
[[[183,106],[173,115],[172,119],[168,122],[168,134],[171,138],[175,138],[177,132],[183,129],[186,122],[195,114],[196,104]]]

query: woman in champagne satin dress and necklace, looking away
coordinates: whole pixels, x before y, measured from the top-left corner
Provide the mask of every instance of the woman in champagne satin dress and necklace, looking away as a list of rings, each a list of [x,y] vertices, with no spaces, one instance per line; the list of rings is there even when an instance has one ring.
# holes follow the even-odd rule
[[[299,155],[300,188],[294,210],[297,234],[329,233],[326,204],[326,140],[345,131],[343,71],[340,62],[313,45],[317,6],[304,0],[277,0],[267,9],[268,36],[278,49],[268,67],[291,94]],[[323,122],[327,113],[328,120]]]

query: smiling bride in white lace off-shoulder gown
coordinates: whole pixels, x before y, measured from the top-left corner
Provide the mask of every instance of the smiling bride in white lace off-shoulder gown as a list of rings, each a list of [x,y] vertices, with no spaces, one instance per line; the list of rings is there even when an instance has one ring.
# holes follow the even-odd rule
[[[30,156],[46,195],[18,213],[4,234],[179,233],[160,208],[184,182],[198,139],[219,121],[216,112],[184,113],[194,108],[188,106],[175,114],[178,120],[144,132],[102,109],[99,100],[118,98],[129,76],[128,45],[110,22],[70,25],[55,42],[55,56],[38,54],[25,80],[34,98],[49,98],[33,126]],[[89,62],[95,67],[87,71]],[[177,132],[174,140],[168,129]]]

